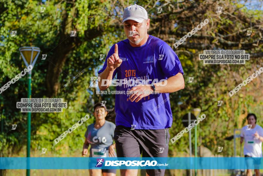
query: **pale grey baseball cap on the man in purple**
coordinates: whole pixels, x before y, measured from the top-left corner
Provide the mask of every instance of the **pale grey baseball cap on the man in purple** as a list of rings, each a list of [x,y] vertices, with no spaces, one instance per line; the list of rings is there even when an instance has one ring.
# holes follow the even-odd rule
[[[134,4],[124,9],[122,19],[122,23],[129,19],[143,22],[143,19],[148,19],[148,13],[142,6]]]

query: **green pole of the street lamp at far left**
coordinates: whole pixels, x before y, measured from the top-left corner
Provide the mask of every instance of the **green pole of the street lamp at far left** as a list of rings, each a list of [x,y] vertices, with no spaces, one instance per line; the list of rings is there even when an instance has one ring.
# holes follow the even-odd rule
[[[27,98],[31,96],[31,71],[28,74],[28,94]],[[27,112],[27,159],[30,158],[30,139],[31,139],[31,112]],[[29,160],[27,167],[29,167]],[[30,169],[27,169],[27,176],[30,176]]]

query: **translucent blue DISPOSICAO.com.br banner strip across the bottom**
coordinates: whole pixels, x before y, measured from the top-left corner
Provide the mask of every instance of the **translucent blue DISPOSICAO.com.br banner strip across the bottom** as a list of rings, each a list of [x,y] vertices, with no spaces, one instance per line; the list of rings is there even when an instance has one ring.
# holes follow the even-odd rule
[[[263,169],[262,159],[244,157],[1,157],[0,169]]]

